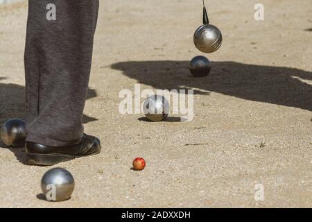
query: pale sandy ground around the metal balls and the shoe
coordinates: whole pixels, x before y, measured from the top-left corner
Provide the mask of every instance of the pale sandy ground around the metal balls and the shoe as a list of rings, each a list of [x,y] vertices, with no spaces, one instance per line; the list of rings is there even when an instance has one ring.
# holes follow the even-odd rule
[[[187,65],[201,55],[192,42],[201,1],[101,0],[85,132],[103,151],[59,164],[76,189],[48,203],[37,194],[51,167],[25,166],[22,148],[0,144],[0,207],[312,207],[311,1],[263,0],[256,22],[258,2],[207,2],[224,40],[198,79]],[[1,124],[24,116],[26,16],[26,3],[0,7]],[[120,114],[120,90],[136,83],[194,89],[193,121]],[[130,170],[137,156],[146,170]]]

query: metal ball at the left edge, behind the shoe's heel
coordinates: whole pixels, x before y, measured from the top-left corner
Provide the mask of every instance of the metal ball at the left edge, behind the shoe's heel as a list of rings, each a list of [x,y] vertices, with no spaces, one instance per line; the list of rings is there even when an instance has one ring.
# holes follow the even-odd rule
[[[10,119],[6,121],[0,131],[1,140],[7,146],[24,146],[26,139],[26,123],[21,119]]]

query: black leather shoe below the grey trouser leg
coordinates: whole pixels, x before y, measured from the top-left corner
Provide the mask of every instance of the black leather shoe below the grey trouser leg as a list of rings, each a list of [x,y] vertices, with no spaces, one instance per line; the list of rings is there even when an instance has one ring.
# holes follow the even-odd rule
[[[78,157],[95,155],[101,152],[100,140],[90,135],[83,135],[79,144],[53,147],[32,142],[26,143],[26,164],[51,166]]]

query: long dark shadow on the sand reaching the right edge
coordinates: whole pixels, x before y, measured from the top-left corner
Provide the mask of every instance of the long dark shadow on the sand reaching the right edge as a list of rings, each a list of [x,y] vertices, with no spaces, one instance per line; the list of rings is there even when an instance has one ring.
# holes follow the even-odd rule
[[[193,78],[188,61],[134,61],[112,69],[156,89],[194,89],[194,94],[217,92],[250,101],[312,111],[312,73],[288,67],[212,62],[211,73]]]

